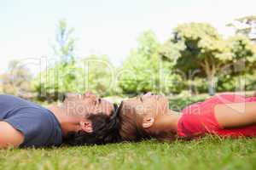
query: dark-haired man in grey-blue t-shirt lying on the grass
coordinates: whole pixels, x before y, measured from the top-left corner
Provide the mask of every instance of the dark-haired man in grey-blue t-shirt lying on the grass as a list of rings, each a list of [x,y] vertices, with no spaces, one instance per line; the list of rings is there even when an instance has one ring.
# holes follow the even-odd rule
[[[114,105],[91,93],[69,94],[48,109],[0,95],[0,148],[62,143],[105,144],[118,140]]]

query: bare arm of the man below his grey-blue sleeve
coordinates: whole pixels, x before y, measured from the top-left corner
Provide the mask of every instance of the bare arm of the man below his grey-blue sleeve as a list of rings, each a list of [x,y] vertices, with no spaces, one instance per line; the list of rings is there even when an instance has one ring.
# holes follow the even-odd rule
[[[0,149],[9,146],[18,147],[22,144],[24,135],[8,122],[0,122]]]

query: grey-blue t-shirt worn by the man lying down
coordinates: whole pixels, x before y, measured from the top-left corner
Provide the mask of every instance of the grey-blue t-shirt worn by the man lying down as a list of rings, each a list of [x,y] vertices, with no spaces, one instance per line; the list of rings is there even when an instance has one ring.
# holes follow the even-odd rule
[[[8,122],[24,134],[20,147],[52,146],[62,142],[61,125],[55,115],[25,99],[0,94],[0,121]]]

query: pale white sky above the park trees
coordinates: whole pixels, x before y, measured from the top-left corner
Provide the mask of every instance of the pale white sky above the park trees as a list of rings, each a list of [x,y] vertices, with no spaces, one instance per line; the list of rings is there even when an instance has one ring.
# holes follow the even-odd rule
[[[230,36],[234,30],[226,24],[256,14],[255,7],[255,0],[0,0],[0,73],[12,59],[39,71],[40,59],[53,56],[61,19],[75,29],[79,57],[105,54],[121,65],[143,31],[164,42],[178,24],[193,21]]]

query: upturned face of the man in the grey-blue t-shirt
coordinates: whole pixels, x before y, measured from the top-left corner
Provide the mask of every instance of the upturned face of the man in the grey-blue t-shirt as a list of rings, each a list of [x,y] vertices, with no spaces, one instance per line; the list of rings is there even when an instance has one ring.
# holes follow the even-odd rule
[[[79,116],[98,113],[110,116],[114,109],[113,104],[90,92],[84,94],[66,94],[63,105],[68,114]]]

